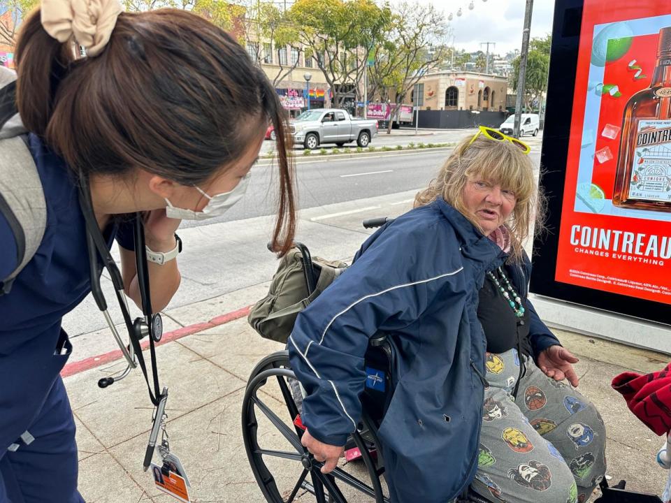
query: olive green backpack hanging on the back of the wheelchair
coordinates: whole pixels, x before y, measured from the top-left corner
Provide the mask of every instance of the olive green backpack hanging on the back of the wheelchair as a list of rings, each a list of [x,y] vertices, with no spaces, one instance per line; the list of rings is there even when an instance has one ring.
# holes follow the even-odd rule
[[[282,257],[268,295],[259,300],[247,316],[261,337],[285,344],[298,313],[347,268],[345,262],[311,258],[305,246],[298,242],[294,245]]]

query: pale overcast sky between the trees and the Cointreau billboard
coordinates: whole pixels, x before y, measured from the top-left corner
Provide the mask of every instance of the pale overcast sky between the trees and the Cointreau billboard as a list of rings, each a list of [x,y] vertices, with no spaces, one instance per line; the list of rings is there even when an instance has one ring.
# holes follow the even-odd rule
[[[473,52],[481,42],[496,42],[490,51],[505,54],[522,45],[525,0],[472,0],[473,10],[468,10],[470,0],[432,0],[447,15],[452,13],[454,46]],[[461,17],[456,11],[461,7]],[[531,38],[542,37],[552,31],[554,0],[535,0],[531,17]],[[484,45],[482,50],[485,50]]]

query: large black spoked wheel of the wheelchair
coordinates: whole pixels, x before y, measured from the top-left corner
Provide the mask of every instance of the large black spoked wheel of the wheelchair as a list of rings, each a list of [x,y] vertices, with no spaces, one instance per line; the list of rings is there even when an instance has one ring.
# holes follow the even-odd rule
[[[269,503],[389,503],[383,469],[369,452],[370,441],[354,432],[351,440],[361,461],[340,460],[330,474],[301,445],[303,429],[294,424],[299,405],[294,400],[287,351],[261,360],[252,371],[243,400],[243,439],[247,458],[261,493]],[[298,400],[300,402],[300,399]],[[368,435],[367,435],[368,436]]]

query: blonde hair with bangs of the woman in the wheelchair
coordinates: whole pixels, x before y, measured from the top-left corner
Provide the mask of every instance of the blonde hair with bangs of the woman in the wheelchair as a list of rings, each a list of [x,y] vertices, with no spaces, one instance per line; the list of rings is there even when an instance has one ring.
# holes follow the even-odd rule
[[[479,231],[477,217],[463,203],[463,190],[470,179],[500,184],[515,194],[515,207],[504,225],[510,232],[511,258],[524,254],[523,243],[533,230],[542,228],[544,198],[533,176],[531,159],[519,147],[507,141],[478,136],[461,140],[440,168],[438,176],[417,193],[414,207],[428,205],[441,197],[463,214]]]

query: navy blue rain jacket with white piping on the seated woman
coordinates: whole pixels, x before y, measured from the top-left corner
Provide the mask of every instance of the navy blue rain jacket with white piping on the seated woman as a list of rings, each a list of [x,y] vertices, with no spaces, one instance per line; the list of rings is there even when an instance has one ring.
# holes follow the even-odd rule
[[[344,445],[361,418],[369,338],[394,340],[396,387],[379,432],[394,503],[446,503],[475,476],[486,349],[478,291],[506,258],[438,199],[370,236],[296,320],[289,356],[307,392],[301,417],[326,444]],[[530,272],[528,259],[512,268],[525,298]],[[537,356],[559,342],[526,308]]]

